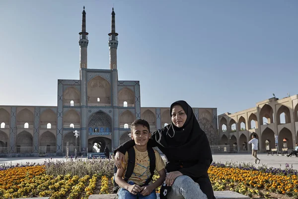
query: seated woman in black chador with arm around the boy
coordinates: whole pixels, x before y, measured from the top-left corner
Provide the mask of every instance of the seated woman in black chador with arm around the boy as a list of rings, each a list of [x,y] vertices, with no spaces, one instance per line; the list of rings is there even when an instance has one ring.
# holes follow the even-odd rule
[[[171,124],[151,134],[148,146],[157,146],[166,156],[164,186],[161,199],[215,199],[208,169],[212,154],[208,138],[201,129],[193,109],[186,101],[172,103]],[[135,145],[133,140],[119,146],[115,164],[122,168],[125,152]]]

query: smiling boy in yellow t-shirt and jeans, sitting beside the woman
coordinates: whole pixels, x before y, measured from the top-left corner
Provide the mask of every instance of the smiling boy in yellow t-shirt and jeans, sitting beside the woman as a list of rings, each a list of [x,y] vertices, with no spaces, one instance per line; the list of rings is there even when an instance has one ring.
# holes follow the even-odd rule
[[[115,182],[121,187],[118,192],[118,199],[156,199],[155,188],[159,187],[164,179],[164,162],[159,153],[154,150],[155,155],[155,170],[159,173],[159,179],[154,183],[143,186],[150,178],[149,170],[149,155],[147,143],[150,138],[150,126],[144,119],[137,119],[131,125],[131,138],[135,141],[135,167],[132,176],[126,182],[123,180],[123,175],[126,172],[127,164],[122,163],[124,169],[118,169]],[[154,157],[154,156],[153,156]],[[125,162],[128,162],[128,152],[125,154]]]

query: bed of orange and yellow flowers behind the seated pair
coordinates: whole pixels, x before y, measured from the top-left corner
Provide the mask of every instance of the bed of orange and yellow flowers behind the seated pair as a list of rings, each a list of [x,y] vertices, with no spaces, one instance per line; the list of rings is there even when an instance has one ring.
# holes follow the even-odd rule
[[[111,160],[50,161],[44,165],[6,167],[0,169],[0,199],[87,199],[91,194],[111,194],[113,173]],[[231,190],[255,198],[278,195],[298,199],[297,171],[289,165],[281,170],[214,163],[208,173],[215,191]],[[153,180],[157,178],[154,175]]]

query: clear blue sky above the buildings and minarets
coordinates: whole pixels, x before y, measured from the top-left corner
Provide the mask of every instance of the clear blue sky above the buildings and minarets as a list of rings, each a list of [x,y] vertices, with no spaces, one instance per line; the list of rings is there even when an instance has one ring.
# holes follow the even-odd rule
[[[140,81],[142,106],[298,94],[297,0],[0,0],[0,104],[57,105],[57,80],[79,79],[83,5],[88,68],[109,69],[113,4],[119,80]]]

